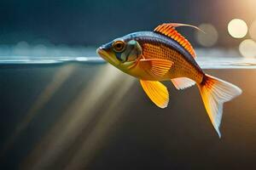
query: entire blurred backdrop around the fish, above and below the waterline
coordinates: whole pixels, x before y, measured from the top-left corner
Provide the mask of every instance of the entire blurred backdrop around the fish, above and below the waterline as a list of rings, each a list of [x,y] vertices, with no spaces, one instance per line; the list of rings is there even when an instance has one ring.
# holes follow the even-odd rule
[[[0,169],[256,169],[255,7],[255,0],[1,0]],[[205,31],[177,28],[204,71],[243,90],[224,105],[221,139],[196,87],[177,91],[165,82],[171,99],[161,110],[135,78],[87,62],[102,43],[163,22]]]

